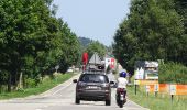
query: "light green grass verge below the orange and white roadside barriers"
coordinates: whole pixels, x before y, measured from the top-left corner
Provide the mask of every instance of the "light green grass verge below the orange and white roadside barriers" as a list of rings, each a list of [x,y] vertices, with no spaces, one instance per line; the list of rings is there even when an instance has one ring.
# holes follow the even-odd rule
[[[169,95],[158,95],[155,97],[151,94],[147,96],[146,92],[143,92],[141,89],[139,89],[135,95],[134,87],[132,86],[128,87],[128,97],[150,110],[187,110],[186,96],[174,96],[174,100],[172,101]]]

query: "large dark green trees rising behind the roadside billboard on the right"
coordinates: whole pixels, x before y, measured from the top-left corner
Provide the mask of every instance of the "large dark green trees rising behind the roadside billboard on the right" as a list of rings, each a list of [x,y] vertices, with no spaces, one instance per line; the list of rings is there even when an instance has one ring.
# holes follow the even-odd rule
[[[132,0],[114,35],[113,53],[133,73],[135,61],[187,65],[186,0]]]

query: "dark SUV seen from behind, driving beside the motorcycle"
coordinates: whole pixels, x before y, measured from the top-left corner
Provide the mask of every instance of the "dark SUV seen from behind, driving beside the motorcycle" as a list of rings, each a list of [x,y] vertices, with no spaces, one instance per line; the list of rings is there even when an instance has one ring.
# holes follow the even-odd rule
[[[105,74],[81,74],[79,79],[74,79],[76,86],[76,103],[80,100],[106,101],[106,106],[111,105],[111,88],[108,77]]]

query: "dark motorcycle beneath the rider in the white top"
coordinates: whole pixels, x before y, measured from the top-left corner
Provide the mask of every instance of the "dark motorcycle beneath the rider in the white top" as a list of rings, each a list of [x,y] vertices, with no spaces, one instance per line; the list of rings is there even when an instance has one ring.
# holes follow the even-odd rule
[[[124,88],[117,88],[117,103],[120,108],[123,108],[123,105],[127,102],[127,90]]]

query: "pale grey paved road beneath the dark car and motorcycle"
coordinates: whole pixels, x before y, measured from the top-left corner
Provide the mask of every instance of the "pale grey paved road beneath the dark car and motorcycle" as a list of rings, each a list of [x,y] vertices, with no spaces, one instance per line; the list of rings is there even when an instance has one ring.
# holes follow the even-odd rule
[[[78,75],[74,78],[77,77]],[[114,89],[111,106],[106,106],[105,101],[80,101],[80,105],[75,105],[76,85],[72,80],[37,96],[1,100],[0,110],[147,110],[130,100],[123,108],[119,108],[114,100]]]

